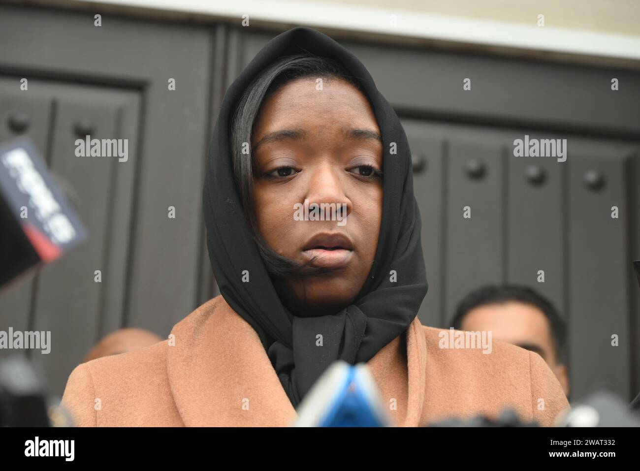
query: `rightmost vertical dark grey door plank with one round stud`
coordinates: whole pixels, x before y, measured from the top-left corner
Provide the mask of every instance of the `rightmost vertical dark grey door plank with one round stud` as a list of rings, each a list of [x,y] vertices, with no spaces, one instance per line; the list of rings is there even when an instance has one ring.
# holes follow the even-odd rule
[[[631,340],[628,162],[625,156],[582,152],[568,161],[571,380],[577,391],[600,385],[624,395],[629,390]],[[611,217],[613,206],[618,207],[618,218]],[[613,335],[618,346],[612,346]]]

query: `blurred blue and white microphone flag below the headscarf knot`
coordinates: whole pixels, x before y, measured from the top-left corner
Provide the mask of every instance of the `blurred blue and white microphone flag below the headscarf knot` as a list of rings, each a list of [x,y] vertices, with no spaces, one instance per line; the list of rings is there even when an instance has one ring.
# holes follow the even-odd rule
[[[388,405],[365,363],[334,362],[298,408],[295,427],[390,427]]]

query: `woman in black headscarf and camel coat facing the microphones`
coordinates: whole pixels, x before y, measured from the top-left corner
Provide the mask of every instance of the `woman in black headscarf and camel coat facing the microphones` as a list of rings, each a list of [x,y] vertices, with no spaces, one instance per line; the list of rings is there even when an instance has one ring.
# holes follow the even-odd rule
[[[314,29],[276,36],[228,89],[211,143],[203,202],[221,296],[168,340],[79,365],[62,401],[77,424],[286,426],[342,359],[367,362],[399,426],[506,407],[551,425],[568,404],[540,356],[441,349],[420,324],[410,162],[353,54]]]

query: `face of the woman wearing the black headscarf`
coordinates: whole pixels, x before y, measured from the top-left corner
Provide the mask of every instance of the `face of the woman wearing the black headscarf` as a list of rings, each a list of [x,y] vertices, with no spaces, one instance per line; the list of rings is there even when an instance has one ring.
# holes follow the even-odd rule
[[[284,280],[301,316],[353,302],[371,269],[382,217],[383,149],[371,105],[347,81],[322,85],[317,90],[316,78],[305,77],[280,87],[262,103],[252,135],[260,234],[284,257],[317,257],[314,266],[339,268]],[[312,211],[314,204],[324,214]]]

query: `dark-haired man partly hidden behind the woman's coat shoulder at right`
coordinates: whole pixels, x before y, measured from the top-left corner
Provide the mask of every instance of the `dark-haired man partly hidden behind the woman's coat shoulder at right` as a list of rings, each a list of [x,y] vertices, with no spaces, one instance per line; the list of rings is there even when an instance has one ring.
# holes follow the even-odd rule
[[[452,327],[492,331],[493,339],[538,353],[569,397],[566,326],[554,305],[538,292],[518,285],[481,287],[460,301]]]

